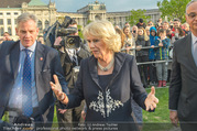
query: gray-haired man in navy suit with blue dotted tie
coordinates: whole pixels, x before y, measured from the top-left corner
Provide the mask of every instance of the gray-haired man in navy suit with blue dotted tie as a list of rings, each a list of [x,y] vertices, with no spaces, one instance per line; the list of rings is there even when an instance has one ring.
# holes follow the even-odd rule
[[[58,52],[36,42],[36,21],[34,14],[22,13],[15,29],[20,41],[0,45],[0,120],[8,111],[10,123],[25,118],[51,127],[55,97],[50,81],[57,75],[65,92],[67,83]]]

